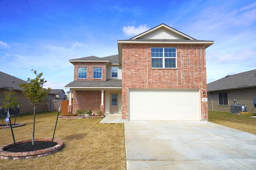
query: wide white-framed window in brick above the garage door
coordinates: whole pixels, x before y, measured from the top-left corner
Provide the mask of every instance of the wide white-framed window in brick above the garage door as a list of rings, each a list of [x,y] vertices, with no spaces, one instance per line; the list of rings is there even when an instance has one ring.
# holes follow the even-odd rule
[[[176,68],[176,48],[151,48],[152,68]]]

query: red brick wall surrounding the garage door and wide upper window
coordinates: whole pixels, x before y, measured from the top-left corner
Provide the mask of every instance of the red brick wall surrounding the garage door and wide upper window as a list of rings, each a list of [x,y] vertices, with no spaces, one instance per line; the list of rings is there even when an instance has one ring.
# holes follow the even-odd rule
[[[176,69],[152,69],[151,47],[176,47]],[[207,98],[204,45],[123,44],[122,119],[128,119],[128,89],[200,89]],[[206,95],[203,95],[206,92]],[[208,119],[207,102],[201,101],[202,119]]]

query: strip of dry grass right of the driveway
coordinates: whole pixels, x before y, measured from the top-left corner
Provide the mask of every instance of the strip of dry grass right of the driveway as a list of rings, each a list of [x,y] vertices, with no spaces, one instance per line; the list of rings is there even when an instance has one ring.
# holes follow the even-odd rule
[[[256,134],[256,118],[250,118],[250,116],[256,116],[255,114],[237,115],[216,111],[209,111],[208,114],[210,122]]]

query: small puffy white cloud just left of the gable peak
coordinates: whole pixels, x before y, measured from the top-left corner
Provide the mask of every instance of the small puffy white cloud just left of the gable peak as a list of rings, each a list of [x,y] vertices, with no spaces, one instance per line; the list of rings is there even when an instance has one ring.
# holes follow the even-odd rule
[[[126,36],[138,35],[147,30],[149,30],[149,26],[147,24],[139,25],[137,28],[135,26],[130,26],[130,25],[122,27],[122,31]]]

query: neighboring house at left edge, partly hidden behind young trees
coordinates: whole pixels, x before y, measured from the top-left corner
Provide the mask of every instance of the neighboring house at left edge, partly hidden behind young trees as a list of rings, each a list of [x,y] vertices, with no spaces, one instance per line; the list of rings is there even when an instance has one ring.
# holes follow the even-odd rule
[[[21,92],[21,89],[19,87],[20,83],[28,83],[27,81],[21,80],[15,76],[11,76],[9,74],[6,74],[4,72],[0,72],[0,101],[4,99],[4,90],[6,89],[13,89],[16,94],[16,97],[18,98],[18,102],[22,104],[20,106],[20,113],[25,112],[32,112],[33,111],[33,105],[30,105],[29,99],[27,99],[24,94]],[[48,94],[48,98],[55,97],[54,94]],[[0,102],[0,106],[2,106],[2,103]],[[39,105],[36,108],[36,111],[46,111],[48,110],[48,106],[45,105]]]

